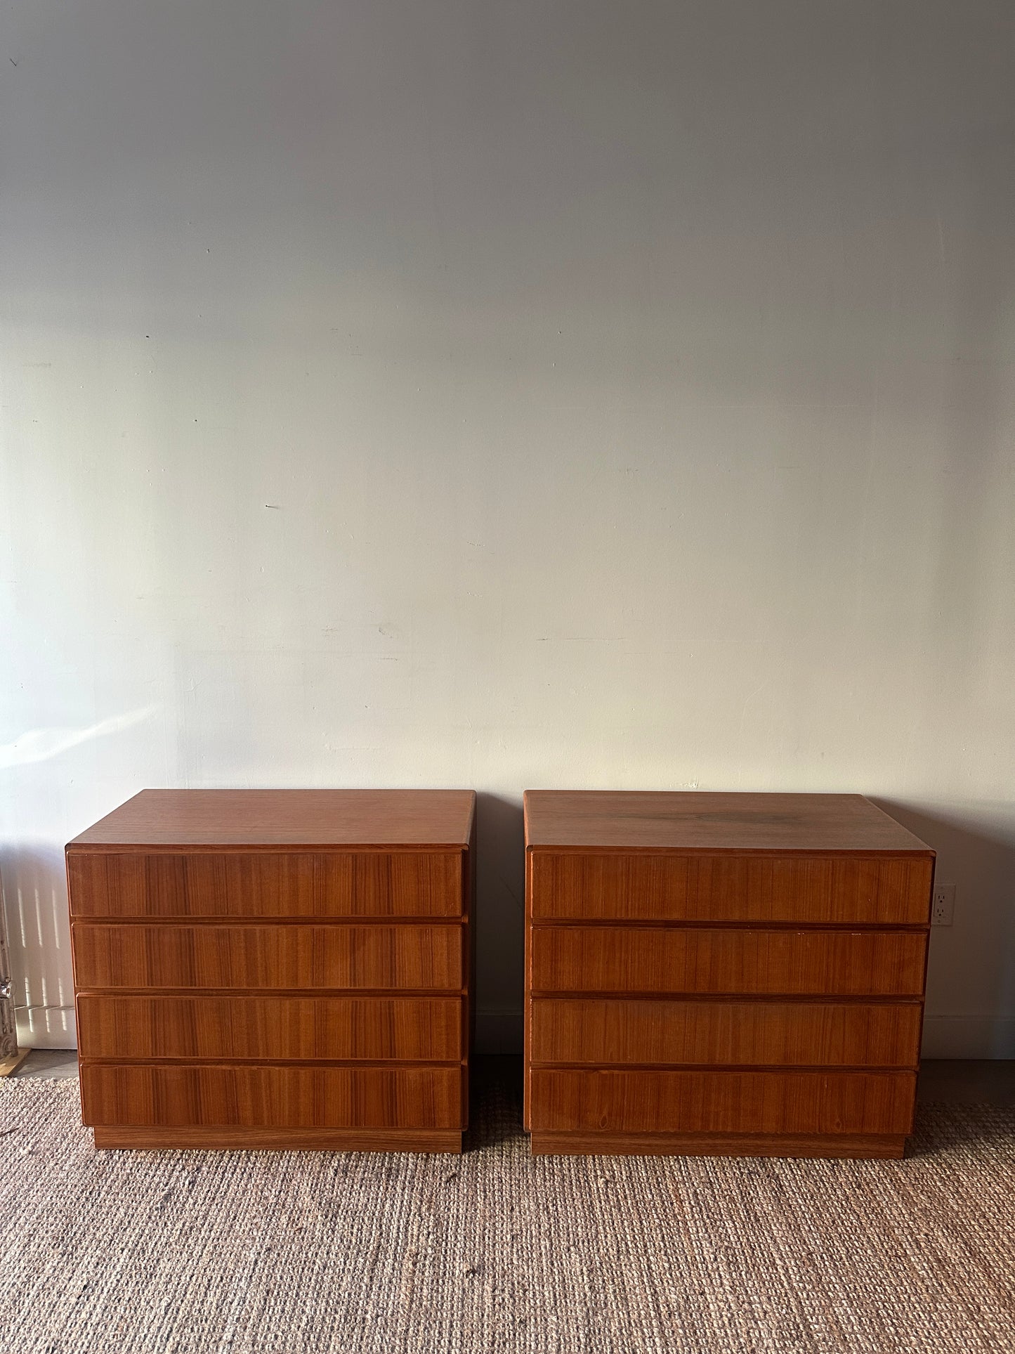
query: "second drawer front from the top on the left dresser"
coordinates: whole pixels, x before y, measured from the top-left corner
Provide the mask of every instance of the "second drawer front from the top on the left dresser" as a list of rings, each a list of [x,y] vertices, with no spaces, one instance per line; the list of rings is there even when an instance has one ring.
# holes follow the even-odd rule
[[[74,980],[89,988],[241,987],[460,991],[463,927],[146,926],[74,922]]]

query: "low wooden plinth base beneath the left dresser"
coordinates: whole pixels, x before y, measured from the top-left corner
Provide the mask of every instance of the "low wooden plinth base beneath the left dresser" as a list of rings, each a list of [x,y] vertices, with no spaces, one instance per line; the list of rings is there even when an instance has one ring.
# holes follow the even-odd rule
[[[300,1152],[461,1152],[461,1133],[360,1128],[96,1128],[97,1148]]]

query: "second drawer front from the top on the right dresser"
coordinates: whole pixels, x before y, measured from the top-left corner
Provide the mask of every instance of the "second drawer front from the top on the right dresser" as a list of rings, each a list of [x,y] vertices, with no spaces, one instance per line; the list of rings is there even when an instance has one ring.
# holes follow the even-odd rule
[[[924,932],[533,926],[535,992],[919,997]]]

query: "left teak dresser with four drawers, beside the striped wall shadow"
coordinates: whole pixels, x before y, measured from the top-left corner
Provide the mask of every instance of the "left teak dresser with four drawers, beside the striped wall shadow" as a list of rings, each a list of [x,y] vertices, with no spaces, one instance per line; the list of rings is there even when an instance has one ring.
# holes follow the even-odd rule
[[[146,789],[66,848],[96,1147],[460,1152],[471,791]]]

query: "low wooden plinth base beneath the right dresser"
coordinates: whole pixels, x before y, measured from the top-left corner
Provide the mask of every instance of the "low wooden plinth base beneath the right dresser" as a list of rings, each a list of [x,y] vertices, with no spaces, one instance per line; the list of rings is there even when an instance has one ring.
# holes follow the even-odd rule
[[[533,1133],[533,1156],[899,1158],[896,1133]]]

